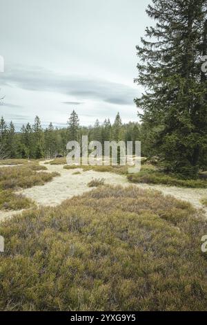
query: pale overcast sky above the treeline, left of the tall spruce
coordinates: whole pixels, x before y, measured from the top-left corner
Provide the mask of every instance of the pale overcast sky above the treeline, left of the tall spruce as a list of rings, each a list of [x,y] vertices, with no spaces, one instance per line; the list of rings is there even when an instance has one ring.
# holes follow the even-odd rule
[[[0,0],[0,114],[7,122],[65,126],[137,121],[135,46],[153,22],[150,0]]]

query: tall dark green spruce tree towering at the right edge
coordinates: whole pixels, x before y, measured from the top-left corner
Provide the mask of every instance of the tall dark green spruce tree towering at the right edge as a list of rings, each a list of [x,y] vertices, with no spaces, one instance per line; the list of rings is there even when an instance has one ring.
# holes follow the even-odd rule
[[[186,177],[205,164],[207,84],[201,72],[206,53],[206,0],[152,0],[146,12],[157,21],[137,46],[139,76],[146,88],[136,99],[141,120],[157,128],[157,154],[166,167]],[[201,163],[202,161],[202,163]]]

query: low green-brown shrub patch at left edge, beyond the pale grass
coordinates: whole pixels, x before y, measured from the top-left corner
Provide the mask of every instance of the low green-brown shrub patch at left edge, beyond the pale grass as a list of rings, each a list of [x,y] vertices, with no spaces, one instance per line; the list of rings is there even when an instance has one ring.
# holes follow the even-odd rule
[[[19,165],[19,163],[19,160],[15,160],[10,165]],[[43,185],[58,176],[58,173],[43,171],[46,169],[37,162],[28,163],[28,161],[21,166],[2,167],[0,169],[0,210],[21,210],[34,206],[32,200],[15,194],[14,190]]]

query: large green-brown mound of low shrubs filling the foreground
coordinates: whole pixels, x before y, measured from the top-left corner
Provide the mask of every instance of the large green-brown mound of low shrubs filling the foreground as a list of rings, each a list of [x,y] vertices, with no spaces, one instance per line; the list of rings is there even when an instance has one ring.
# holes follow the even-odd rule
[[[137,187],[99,187],[1,223],[1,310],[206,310],[207,221]]]

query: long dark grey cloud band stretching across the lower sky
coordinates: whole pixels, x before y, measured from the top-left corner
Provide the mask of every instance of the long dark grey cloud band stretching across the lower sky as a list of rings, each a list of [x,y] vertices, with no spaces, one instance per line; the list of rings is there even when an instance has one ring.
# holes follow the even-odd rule
[[[82,101],[98,100],[110,104],[132,104],[137,97],[137,89],[126,84],[110,82],[99,77],[80,75],[60,75],[43,68],[14,67],[5,71],[1,83],[30,91],[50,91],[70,95],[75,102],[63,104],[81,104]]]

